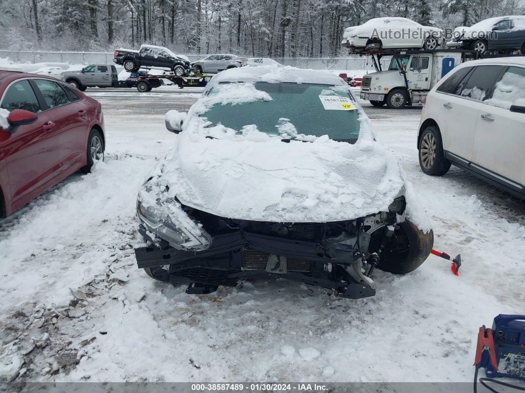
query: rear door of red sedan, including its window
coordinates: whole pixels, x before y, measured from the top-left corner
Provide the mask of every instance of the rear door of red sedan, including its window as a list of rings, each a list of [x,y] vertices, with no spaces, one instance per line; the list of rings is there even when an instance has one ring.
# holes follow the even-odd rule
[[[49,79],[34,80],[49,109],[46,111],[56,123],[59,167],[65,171],[86,155],[88,135],[88,108],[85,100],[65,84]]]

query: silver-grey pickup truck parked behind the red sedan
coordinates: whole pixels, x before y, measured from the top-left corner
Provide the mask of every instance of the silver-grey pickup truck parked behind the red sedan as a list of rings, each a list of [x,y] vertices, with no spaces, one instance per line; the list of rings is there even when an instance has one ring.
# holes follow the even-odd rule
[[[110,64],[91,64],[80,71],[65,71],[60,78],[81,91],[87,87],[113,87],[119,80],[117,67]]]

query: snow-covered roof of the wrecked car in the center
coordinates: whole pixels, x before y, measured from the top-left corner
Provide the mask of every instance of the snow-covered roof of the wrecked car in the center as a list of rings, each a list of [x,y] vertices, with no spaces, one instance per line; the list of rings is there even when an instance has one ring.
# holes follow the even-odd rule
[[[219,72],[210,83],[231,82],[270,82],[270,83],[319,83],[319,84],[346,84],[340,77],[328,71],[308,70],[296,67],[241,67],[230,68]]]

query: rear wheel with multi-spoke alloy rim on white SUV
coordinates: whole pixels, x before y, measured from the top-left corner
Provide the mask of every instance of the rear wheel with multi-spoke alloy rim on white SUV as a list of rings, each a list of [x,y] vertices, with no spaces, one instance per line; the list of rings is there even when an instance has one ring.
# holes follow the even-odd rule
[[[419,140],[419,166],[430,176],[442,176],[450,169],[450,161],[445,158],[441,133],[435,125],[427,127]]]

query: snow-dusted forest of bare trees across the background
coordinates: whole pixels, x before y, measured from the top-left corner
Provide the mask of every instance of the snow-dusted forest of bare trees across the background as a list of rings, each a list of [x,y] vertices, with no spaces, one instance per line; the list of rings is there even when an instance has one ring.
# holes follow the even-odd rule
[[[522,0],[0,0],[0,49],[346,55],[345,27],[381,16],[442,29],[525,13]]]

